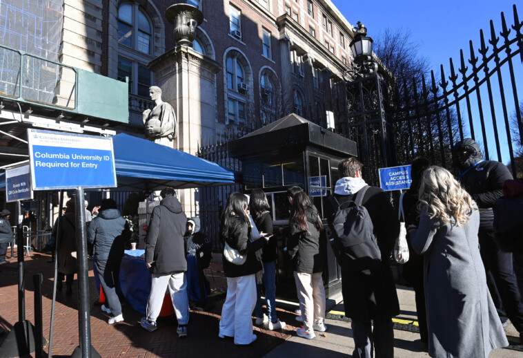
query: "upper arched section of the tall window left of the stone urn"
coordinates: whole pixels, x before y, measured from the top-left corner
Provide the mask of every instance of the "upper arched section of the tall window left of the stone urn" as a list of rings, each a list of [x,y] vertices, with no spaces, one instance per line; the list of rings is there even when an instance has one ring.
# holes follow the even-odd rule
[[[152,26],[138,4],[124,3],[118,8],[118,43],[147,55],[151,54]]]

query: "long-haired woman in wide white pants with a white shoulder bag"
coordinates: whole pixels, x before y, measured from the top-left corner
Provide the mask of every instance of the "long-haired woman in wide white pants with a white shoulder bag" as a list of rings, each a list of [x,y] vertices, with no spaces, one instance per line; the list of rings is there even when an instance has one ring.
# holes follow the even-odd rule
[[[234,337],[237,345],[247,345],[256,340],[253,334],[252,314],[256,305],[256,274],[263,266],[256,255],[266,243],[263,232],[259,238],[251,237],[250,218],[247,214],[248,201],[244,194],[230,194],[220,221],[221,241],[227,243],[246,261],[236,265],[223,256],[224,272],[227,277],[227,296],[219,321],[218,337]]]

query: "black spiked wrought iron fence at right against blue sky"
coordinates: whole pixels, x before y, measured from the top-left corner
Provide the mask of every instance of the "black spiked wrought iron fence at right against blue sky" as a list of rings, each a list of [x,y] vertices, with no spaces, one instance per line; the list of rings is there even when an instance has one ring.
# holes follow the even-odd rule
[[[513,24],[507,26],[503,13],[501,20],[500,32],[491,20],[490,39],[480,31],[479,48],[469,41],[468,59],[460,51],[459,68],[450,59],[450,75],[442,65],[440,81],[432,71],[430,82],[422,77],[421,83],[413,79],[384,91],[392,164],[408,164],[422,155],[450,168],[455,142],[473,138],[486,159],[508,164],[514,176],[523,175],[523,102],[517,95],[522,84],[517,73],[523,71],[523,22],[515,5]]]

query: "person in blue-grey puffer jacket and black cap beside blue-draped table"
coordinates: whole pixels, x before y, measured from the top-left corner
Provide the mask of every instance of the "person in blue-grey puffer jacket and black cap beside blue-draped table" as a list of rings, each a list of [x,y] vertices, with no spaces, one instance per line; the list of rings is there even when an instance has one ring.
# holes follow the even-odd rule
[[[88,227],[87,239],[88,243],[94,245],[95,265],[109,305],[109,309],[102,305],[102,310],[113,314],[109,324],[124,321],[116,287],[121,258],[124,256],[124,242],[129,236],[129,225],[117,209],[115,200],[101,200],[99,214]]]

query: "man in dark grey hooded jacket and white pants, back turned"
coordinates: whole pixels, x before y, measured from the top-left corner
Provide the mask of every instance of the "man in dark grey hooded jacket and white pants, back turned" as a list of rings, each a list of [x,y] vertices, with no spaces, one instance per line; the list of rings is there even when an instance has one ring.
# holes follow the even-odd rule
[[[175,189],[163,189],[160,196],[164,199],[161,200],[160,205],[152,209],[146,236],[146,265],[152,277],[147,317],[142,317],[140,323],[150,332],[157,329],[156,319],[164,303],[166,290],[169,288],[178,321],[178,337],[187,337],[189,300],[184,243],[187,216],[181,210]]]

